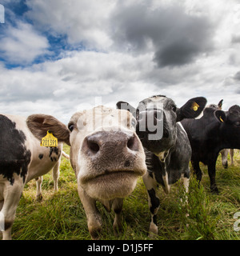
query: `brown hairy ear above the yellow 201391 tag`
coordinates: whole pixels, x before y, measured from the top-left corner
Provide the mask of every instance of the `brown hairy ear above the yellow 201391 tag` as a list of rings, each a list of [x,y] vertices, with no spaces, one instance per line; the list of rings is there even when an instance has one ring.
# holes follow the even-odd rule
[[[58,138],[58,142],[65,142],[70,146],[70,130],[67,129],[65,124],[51,115],[32,114],[26,119],[26,124],[31,133],[40,141],[50,130],[54,137]]]

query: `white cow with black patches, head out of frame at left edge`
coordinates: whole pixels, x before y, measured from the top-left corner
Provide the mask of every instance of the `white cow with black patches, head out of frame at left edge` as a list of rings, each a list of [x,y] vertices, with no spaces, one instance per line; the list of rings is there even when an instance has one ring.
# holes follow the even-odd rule
[[[50,117],[47,122],[53,120]],[[26,183],[54,168],[56,187],[62,142],[56,147],[40,146],[26,118],[16,115],[0,114],[0,126],[0,228],[5,240],[11,239],[15,212]],[[65,127],[62,123],[59,126]],[[40,182],[37,186],[37,197],[40,197]]]

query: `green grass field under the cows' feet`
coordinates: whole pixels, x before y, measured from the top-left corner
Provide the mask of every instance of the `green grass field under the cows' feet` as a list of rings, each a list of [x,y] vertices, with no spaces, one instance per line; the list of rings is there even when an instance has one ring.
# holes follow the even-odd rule
[[[64,150],[69,153],[69,147]],[[181,182],[171,187],[169,195],[158,188],[161,204],[158,211],[159,240],[239,240],[240,231],[234,231],[234,214],[240,212],[240,154],[235,150],[234,166],[222,167],[221,157],[217,162],[217,184],[220,193],[211,194],[206,166],[201,186],[194,178],[190,180],[188,204]],[[230,161],[229,161],[230,162]],[[13,239],[90,239],[86,215],[78,198],[77,182],[69,160],[62,158],[58,192],[54,192],[51,172],[43,177],[41,202],[35,200],[36,182],[29,182],[18,205],[12,230]],[[192,175],[193,176],[193,175]],[[98,203],[102,213],[104,240],[147,240],[150,210],[146,189],[139,178],[134,193],[124,201],[122,210],[123,230],[114,235],[114,213],[107,213]],[[186,218],[186,212],[189,217]],[[236,222],[235,224],[238,224]],[[238,225],[240,227],[240,223]]]

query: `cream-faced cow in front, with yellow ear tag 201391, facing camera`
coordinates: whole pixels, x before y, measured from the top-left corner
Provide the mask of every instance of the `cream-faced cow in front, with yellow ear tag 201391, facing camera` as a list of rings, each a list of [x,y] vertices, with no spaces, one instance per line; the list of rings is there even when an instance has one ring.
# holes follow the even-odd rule
[[[102,229],[97,201],[106,210],[114,210],[114,231],[121,230],[123,198],[132,193],[138,177],[146,173],[145,154],[135,132],[134,116],[126,110],[96,106],[75,113],[68,129],[59,127],[56,120],[45,126],[45,119],[45,115],[31,115],[27,125],[38,139],[47,129],[60,141],[65,141],[67,135],[70,162],[91,238],[98,239]]]

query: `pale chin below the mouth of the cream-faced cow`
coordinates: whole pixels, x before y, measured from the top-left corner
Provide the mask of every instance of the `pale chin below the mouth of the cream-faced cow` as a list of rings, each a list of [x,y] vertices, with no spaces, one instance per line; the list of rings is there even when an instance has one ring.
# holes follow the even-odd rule
[[[98,200],[126,198],[134,191],[138,177],[132,171],[113,171],[90,179],[82,188],[91,198]]]

